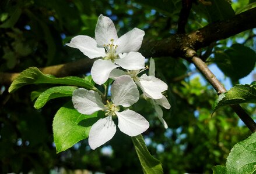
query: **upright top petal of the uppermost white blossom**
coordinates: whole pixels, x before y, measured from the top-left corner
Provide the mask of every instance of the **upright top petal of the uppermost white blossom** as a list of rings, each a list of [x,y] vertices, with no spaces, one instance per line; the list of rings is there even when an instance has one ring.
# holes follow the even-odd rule
[[[110,44],[110,39],[117,41],[117,30],[109,17],[100,14],[95,28],[95,39],[99,46]]]

